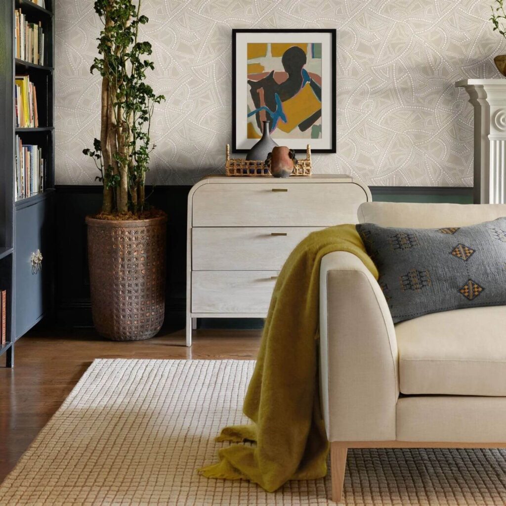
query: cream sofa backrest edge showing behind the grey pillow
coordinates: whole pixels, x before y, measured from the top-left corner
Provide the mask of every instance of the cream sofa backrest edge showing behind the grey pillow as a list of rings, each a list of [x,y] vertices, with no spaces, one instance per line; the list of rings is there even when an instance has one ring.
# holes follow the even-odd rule
[[[358,208],[359,223],[382,227],[465,227],[506,216],[506,204],[413,204],[365,202]]]

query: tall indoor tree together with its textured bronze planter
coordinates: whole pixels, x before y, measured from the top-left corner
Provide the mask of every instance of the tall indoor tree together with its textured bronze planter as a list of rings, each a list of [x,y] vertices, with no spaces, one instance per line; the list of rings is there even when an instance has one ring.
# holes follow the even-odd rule
[[[165,305],[164,213],[148,207],[144,183],[154,149],[149,128],[154,104],[164,100],[145,83],[154,64],[151,44],[138,40],[141,0],[97,0],[103,22],[100,139],[90,156],[103,185],[102,210],[86,218],[93,322],[116,341],[148,339],[163,323]]]

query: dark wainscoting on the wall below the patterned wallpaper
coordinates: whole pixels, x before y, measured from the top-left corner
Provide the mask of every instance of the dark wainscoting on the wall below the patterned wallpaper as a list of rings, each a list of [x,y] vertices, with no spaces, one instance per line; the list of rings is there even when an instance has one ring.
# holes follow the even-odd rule
[[[171,328],[182,328],[185,324],[186,209],[190,188],[146,187],[150,204],[163,209],[168,215],[165,325]],[[471,203],[472,192],[472,188],[371,187],[373,200],[399,202]],[[101,197],[101,186],[56,187],[55,307],[57,323],[61,326],[79,327],[93,324],[85,217],[100,209]],[[245,325],[240,321],[228,322],[227,325]],[[251,323],[258,326],[258,322]],[[213,322],[209,321],[207,325],[213,325]]]

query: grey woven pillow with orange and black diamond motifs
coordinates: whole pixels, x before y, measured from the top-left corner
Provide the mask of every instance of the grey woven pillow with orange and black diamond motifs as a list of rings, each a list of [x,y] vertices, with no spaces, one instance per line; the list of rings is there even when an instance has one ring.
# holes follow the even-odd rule
[[[461,227],[357,225],[394,323],[428,313],[506,305],[506,218]]]

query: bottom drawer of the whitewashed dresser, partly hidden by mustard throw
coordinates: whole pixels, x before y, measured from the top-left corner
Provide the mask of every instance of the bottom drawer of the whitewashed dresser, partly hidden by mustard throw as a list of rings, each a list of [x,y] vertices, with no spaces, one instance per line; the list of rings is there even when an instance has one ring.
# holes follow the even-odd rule
[[[264,313],[267,316],[278,271],[195,271],[193,313]]]

